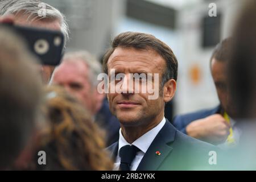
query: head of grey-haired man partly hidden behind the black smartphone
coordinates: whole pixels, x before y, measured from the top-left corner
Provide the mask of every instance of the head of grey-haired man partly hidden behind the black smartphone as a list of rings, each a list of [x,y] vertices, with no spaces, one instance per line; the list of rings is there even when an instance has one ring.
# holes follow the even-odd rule
[[[42,14],[41,14],[42,13]],[[64,34],[66,45],[69,38],[68,24],[65,16],[59,10],[38,0],[2,0],[0,2],[0,15],[14,15],[14,24],[47,28],[61,31]],[[42,79],[47,84],[54,71],[53,66],[43,65]]]

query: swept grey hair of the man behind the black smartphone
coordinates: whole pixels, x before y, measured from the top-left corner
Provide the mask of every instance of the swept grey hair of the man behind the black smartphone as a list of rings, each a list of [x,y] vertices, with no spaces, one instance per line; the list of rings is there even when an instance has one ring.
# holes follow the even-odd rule
[[[40,15],[39,11],[42,8],[40,7],[42,3],[39,0],[1,0],[0,15],[17,15],[18,13],[23,13],[24,15],[28,15],[28,20],[31,21],[36,19],[58,19],[60,21],[61,32],[63,32],[65,37],[65,46],[69,40],[69,28],[65,16],[55,7],[47,3],[43,3],[46,7],[46,15]]]

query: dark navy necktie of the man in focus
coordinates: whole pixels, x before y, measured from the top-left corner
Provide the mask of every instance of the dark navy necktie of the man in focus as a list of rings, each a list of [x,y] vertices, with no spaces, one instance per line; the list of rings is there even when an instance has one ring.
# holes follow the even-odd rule
[[[119,170],[120,171],[130,171],[131,162],[133,162],[133,159],[135,158],[136,154],[139,150],[139,148],[135,146],[123,146],[119,150],[119,156],[121,158],[121,163]]]

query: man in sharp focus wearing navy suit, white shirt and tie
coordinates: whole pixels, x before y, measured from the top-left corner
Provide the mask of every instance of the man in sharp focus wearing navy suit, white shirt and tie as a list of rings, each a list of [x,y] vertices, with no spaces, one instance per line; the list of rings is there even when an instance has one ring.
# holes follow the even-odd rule
[[[217,149],[177,131],[164,118],[164,104],[174,97],[177,79],[170,47],[152,35],[125,32],[113,40],[103,67],[110,78],[110,111],[121,125],[118,142],[108,148],[115,170],[212,167],[209,152]]]

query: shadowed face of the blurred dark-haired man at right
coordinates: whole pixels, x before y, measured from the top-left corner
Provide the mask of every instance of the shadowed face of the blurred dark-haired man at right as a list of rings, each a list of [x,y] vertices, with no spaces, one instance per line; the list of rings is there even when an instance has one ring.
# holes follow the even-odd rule
[[[227,90],[227,75],[226,75],[226,63],[224,61],[218,61],[212,59],[212,77],[217,90],[218,99],[220,100],[221,106],[225,111],[230,114],[228,105],[228,90]]]

